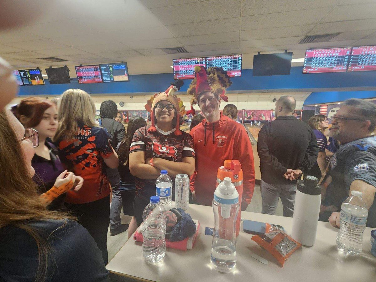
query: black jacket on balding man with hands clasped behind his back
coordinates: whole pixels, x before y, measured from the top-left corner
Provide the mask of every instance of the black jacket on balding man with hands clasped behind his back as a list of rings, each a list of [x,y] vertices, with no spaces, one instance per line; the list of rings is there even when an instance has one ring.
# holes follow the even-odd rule
[[[310,169],[317,161],[318,146],[311,127],[293,115],[264,124],[257,140],[261,179],[270,184],[293,184],[284,179],[288,168]]]

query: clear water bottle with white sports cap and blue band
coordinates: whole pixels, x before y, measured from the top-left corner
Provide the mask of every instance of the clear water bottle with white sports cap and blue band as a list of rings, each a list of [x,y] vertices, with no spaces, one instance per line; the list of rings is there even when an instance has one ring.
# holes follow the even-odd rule
[[[236,220],[239,212],[239,194],[225,177],[214,192],[214,234],[211,265],[221,272],[231,272],[236,267]]]

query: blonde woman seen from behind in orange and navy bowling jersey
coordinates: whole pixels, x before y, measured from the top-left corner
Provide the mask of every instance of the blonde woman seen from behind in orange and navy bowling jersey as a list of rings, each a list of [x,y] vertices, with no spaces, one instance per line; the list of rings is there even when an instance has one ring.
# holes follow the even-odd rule
[[[79,191],[68,191],[65,206],[77,217],[108,262],[107,232],[110,218],[110,183],[104,172],[118,167],[118,156],[105,129],[97,127],[95,104],[81,89],[68,89],[59,101],[59,125],[53,141],[66,168],[83,177]]]

